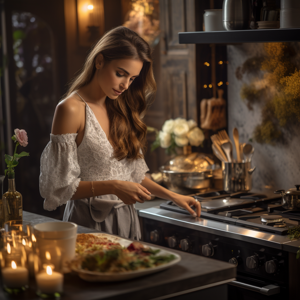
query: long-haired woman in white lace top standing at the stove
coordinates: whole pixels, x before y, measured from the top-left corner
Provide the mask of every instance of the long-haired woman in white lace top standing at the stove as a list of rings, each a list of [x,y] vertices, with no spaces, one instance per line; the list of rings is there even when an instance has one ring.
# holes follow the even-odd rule
[[[142,118],[155,90],[149,45],[123,26],[106,32],[56,107],[41,157],[44,209],[67,203],[64,221],[135,239],[141,235],[134,203],[151,193],[200,216],[194,198],[145,177]]]

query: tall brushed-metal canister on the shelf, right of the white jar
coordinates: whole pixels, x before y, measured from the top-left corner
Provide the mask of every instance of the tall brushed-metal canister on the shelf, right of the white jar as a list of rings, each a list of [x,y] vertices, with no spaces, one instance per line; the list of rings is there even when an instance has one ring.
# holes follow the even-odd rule
[[[226,30],[249,29],[251,19],[250,0],[223,1],[223,27]]]

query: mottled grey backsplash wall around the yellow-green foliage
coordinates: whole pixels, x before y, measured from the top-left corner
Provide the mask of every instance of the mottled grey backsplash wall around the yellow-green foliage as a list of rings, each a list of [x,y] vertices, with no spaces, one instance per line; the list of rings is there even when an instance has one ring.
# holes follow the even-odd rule
[[[241,99],[240,90],[244,83],[250,82],[251,77],[244,75],[238,80],[235,71],[247,58],[261,55],[263,51],[263,43],[227,46],[228,131],[232,138],[232,129],[238,128],[242,143],[249,142],[255,127],[261,122],[262,105],[254,104],[253,110],[248,109],[245,101]],[[300,123],[296,122],[291,130],[283,134],[284,143],[269,145],[251,142],[255,147],[251,160],[252,167],[256,166],[252,175],[254,191],[272,195],[274,190],[286,190],[300,184]]]

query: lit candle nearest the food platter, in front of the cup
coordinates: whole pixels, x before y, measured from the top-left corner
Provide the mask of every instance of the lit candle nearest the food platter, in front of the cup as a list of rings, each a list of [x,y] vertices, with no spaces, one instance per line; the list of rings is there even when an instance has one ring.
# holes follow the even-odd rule
[[[64,275],[52,271],[52,268],[47,265],[46,272],[43,271],[36,274],[36,282],[38,289],[45,294],[54,294],[55,292],[62,292],[62,285],[64,282]]]

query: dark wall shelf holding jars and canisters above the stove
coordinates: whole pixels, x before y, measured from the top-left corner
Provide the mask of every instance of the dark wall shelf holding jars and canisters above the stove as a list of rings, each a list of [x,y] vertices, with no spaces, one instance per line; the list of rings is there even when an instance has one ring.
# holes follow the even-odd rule
[[[179,32],[179,44],[298,42],[300,28]]]

